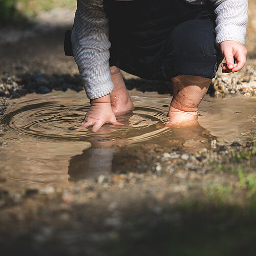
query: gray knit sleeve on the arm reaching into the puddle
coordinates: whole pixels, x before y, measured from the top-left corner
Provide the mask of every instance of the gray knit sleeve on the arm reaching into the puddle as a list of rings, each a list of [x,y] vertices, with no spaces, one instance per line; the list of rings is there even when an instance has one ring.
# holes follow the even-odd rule
[[[71,40],[88,98],[99,98],[112,92],[109,20],[103,10],[103,0],[77,0]]]

